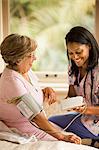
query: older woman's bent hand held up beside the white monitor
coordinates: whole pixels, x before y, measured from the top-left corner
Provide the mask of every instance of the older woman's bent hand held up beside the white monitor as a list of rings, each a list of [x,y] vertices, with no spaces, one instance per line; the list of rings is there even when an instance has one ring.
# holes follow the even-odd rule
[[[42,91],[43,91],[44,101],[48,102],[49,105],[56,102],[57,100],[56,93],[52,88],[46,87]]]

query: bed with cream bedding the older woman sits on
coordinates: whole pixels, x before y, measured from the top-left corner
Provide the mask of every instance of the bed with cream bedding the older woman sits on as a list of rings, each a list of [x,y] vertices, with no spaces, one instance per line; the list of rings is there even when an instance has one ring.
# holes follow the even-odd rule
[[[24,138],[12,132],[0,121],[0,150],[98,150],[85,145],[77,145],[63,141],[38,141],[34,136]]]

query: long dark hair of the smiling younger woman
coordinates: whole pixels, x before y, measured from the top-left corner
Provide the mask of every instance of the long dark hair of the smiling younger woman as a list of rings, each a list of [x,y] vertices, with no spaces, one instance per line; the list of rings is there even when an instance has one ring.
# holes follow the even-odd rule
[[[92,100],[92,89],[93,89],[92,70],[95,66],[98,65],[99,45],[98,45],[96,39],[94,38],[94,36],[92,35],[92,33],[89,32],[84,27],[81,27],[81,26],[73,27],[67,33],[67,35],[65,37],[65,41],[66,41],[66,45],[68,43],[77,42],[79,44],[87,44],[91,47],[91,49],[89,51],[87,74],[88,74],[89,71],[91,71],[91,82],[92,82],[92,85],[91,85],[91,100]],[[67,49],[67,56],[68,56],[68,60],[69,60],[70,65],[71,65],[71,70],[70,70],[69,74],[70,75],[74,74],[76,76],[75,84],[77,85],[78,84],[77,77],[78,77],[79,68],[77,67],[77,65],[75,64],[75,62],[73,60],[69,59],[68,49]],[[86,76],[86,78],[87,78],[87,76]],[[86,80],[85,80],[85,82],[86,82]],[[85,95],[85,83],[84,83],[84,95]]]

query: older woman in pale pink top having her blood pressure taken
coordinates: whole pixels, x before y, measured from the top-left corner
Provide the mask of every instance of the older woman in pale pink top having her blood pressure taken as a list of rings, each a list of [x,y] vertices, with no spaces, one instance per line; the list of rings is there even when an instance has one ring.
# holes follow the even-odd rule
[[[1,55],[7,66],[0,79],[0,118],[9,128],[17,129],[21,134],[35,135],[41,140],[58,139],[79,144],[79,137],[63,134],[45,116],[43,100],[47,99],[51,104],[56,97],[51,88],[40,89],[37,77],[30,69],[36,60],[36,48],[34,40],[18,34],[7,36],[1,43]],[[15,102],[18,100],[24,103],[18,105]],[[32,108],[32,115],[31,112],[27,114],[25,104]]]

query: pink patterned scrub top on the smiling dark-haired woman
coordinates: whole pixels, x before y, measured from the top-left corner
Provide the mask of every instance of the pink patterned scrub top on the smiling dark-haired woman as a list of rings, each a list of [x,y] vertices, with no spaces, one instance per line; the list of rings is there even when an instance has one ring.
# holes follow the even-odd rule
[[[69,85],[74,85],[77,95],[83,96],[87,106],[99,106],[99,66],[96,66],[92,70],[93,75],[93,88],[91,89],[91,71],[78,82],[79,86],[74,85],[76,77],[74,75],[69,76]],[[79,78],[79,75],[78,75]],[[85,82],[86,80],[86,82]],[[78,80],[79,81],[79,80]],[[85,83],[84,83],[85,82]],[[84,94],[85,84],[85,94]],[[91,101],[92,90],[92,101]],[[82,115],[81,121],[83,125],[94,135],[99,136],[99,115]]]

